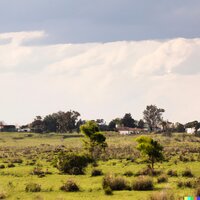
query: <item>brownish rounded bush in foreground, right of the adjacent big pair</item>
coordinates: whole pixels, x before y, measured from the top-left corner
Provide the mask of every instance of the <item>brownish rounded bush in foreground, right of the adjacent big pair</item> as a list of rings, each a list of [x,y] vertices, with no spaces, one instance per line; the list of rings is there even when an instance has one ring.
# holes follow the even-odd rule
[[[139,176],[132,182],[133,190],[153,190],[153,179],[148,176]]]

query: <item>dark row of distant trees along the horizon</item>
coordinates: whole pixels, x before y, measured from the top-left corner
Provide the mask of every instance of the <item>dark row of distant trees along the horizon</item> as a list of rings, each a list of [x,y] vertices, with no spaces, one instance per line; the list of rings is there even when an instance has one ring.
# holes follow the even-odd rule
[[[147,105],[143,111],[143,119],[136,120],[131,113],[125,113],[122,118],[112,119],[106,123],[104,119],[93,120],[99,127],[100,131],[116,131],[118,127],[148,129],[150,132],[185,132],[186,128],[195,128],[197,133],[200,128],[200,122],[192,121],[186,124],[171,123],[163,119],[163,108],[158,108],[156,105]],[[78,111],[70,110],[67,112],[59,111],[57,113],[46,115],[44,118],[36,116],[29,125],[32,132],[36,133],[72,133],[79,132],[80,126],[85,124],[86,120],[81,119]]]

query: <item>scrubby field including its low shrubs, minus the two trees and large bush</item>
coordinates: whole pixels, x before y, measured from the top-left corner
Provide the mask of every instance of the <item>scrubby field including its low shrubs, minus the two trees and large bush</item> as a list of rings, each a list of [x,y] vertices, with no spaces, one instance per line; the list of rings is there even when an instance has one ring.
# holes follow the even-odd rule
[[[200,138],[147,135],[163,146],[153,174],[137,149],[139,136],[113,132],[104,135],[107,147],[96,162],[88,161],[76,175],[59,168],[58,157],[80,159],[83,135],[0,133],[0,199],[182,199],[199,193]]]

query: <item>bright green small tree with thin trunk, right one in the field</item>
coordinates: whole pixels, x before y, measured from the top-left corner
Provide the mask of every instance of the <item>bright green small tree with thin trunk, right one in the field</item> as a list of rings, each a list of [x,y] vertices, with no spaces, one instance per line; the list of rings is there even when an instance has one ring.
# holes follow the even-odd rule
[[[136,139],[138,142],[137,149],[145,156],[151,163],[151,170],[154,170],[155,162],[163,160],[163,147],[157,141],[147,136],[141,136]]]

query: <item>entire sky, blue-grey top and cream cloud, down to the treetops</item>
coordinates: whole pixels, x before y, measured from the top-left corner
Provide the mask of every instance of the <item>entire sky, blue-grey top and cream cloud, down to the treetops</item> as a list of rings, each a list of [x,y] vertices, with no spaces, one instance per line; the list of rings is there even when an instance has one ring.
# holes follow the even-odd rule
[[[199,0],[0,0],[0,120],[107,122],[149,104],[200,121]]]

